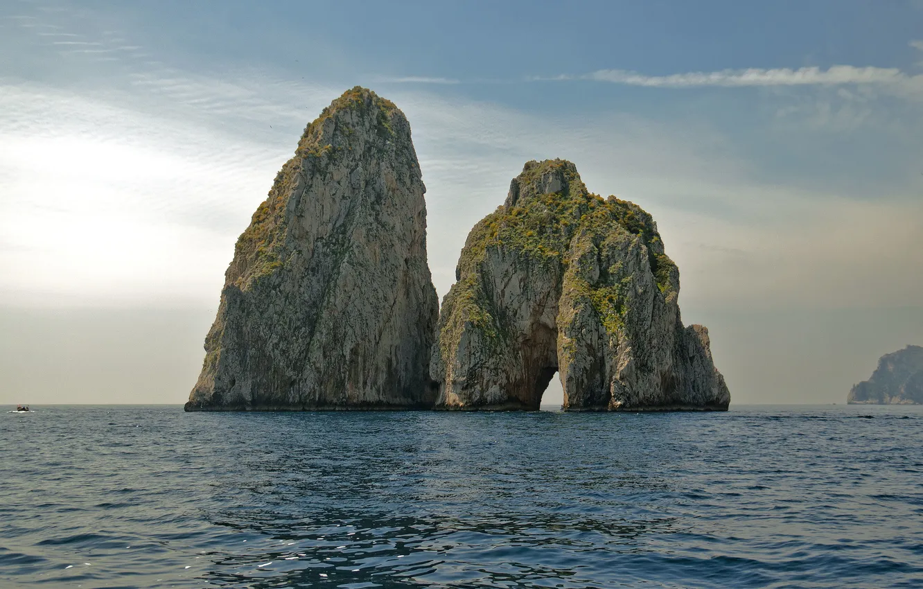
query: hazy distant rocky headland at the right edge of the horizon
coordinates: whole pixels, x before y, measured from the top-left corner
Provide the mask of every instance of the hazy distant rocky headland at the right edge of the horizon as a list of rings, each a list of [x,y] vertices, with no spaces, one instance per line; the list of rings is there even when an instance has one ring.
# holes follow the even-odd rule
[[[923,347],[881,356],[871,378],[849,391],[850,404],[923,404]]]

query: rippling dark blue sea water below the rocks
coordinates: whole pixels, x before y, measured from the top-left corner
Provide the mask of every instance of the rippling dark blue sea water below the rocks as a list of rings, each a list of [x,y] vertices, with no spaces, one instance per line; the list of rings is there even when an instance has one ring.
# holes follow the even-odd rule
[[[923,587],[923,407],[33,408],[2,587]]]

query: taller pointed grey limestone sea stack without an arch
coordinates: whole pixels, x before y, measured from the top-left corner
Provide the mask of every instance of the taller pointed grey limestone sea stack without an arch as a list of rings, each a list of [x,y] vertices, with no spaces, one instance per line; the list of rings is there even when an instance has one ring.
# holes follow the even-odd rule
[[[237,240],[186,410],[431,407],[425,190],[393,103],[324,109]]]

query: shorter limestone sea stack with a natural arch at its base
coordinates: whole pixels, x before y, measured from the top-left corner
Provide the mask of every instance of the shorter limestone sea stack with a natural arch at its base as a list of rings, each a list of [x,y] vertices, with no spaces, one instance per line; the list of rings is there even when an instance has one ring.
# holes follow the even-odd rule
[[[445,409],[725,410],[708,331],[684,328],[679,271],[635,204],[587,191],[576,167],[528,162],[474,226],[439,317],[430,373]]]

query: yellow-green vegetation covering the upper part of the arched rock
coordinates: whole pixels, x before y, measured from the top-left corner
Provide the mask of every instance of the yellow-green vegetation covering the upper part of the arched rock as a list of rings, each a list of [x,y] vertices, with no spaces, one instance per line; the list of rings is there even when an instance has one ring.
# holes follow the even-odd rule
[[[478,280],[479,265],[491,248],[529,263],[566,271],[568,251],[579,246],[575,242],[603,241],[611,239],[613,233],[629,239],[637,237],[647,249],[657,287],[664,294],[677,291],[676,264],[665,255],[651,215],[638,205],[589,192],[576,167],[564,160],[527,162],[514,185],[520,191],[519,197],[508,199],[506,205],[478,222],[462,249],[457,271],[460,282],[452,288],[443,309],[444,313],[448,310],[457,314],[457,319],[441,322],[444,332],[440,333],[440,343],[447,350],[458,343],[460,334],[452,331],[460,319],[484,330],[489,340],[502,343],[497,341],[502,336],[497,311]],[[542,190],[547,187],[557,190]],[[630,277],[619,274],[616,268],[605,268],[592,282],[579,278],[564,282],[564,289],[571,295],[579,294],[592,302],[610,331],[617,331],[623,322],[625,292],[630,283]]]

